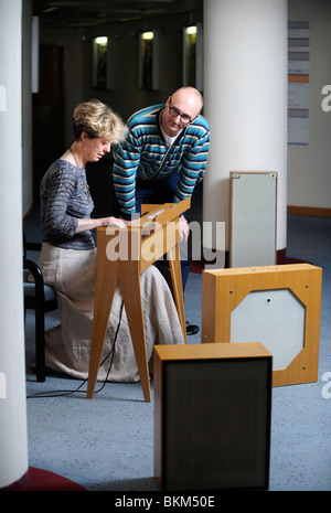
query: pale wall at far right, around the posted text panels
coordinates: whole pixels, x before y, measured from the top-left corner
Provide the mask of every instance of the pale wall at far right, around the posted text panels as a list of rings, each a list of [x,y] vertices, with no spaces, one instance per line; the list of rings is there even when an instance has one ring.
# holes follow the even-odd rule
[[[331,84],[331,1],[289,0],[289,21],[310,23],[309,143],[288,146],[288,205],[331,207],[331,111],[321,107]]]

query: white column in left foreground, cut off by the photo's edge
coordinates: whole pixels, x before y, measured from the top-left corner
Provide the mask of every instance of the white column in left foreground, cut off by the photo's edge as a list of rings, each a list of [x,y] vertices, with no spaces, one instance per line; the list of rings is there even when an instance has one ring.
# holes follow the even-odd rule
[[[0,489],[28,474],[22,288],[22,2],[0,2]]]

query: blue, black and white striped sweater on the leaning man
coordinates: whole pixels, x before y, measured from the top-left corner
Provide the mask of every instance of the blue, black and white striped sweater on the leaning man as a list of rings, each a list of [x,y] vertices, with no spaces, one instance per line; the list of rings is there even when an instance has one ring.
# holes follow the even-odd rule
[[[210,147],[206,119],[200,115],[167,148],[159,122],[163,108],[164,105],[154,105],[134,114],[128,120],[126,140],[115,150],[113,180],[124,215],[136,212],[136,178],[162,180],[179,172],[174,203],[190,196],[203,179]]]

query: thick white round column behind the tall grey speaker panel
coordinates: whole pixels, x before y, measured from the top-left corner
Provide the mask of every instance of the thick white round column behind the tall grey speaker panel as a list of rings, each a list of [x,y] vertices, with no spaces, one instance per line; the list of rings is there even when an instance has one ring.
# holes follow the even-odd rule
[[[203,221],[226,223],[229,172],[278,173],[277,250],[286,248],[287,0],[204,0],[204,115],[211,150]]]

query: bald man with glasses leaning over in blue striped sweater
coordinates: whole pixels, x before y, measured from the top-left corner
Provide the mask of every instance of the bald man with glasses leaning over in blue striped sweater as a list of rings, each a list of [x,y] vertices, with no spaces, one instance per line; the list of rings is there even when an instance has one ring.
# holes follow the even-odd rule
[[[201,116],[203,98],[194,87],[181,87],[167,99],[134,114],[128,136],[114,154],[113,182],[124,218],[140,212],[142,203],[178,203],[191,196],[204,175],[210,127]],[[180,237],[189,225],[180,218]],[[183,289],[190,271],[182,260]],[[188,334],[197,327],[186,325]]]

